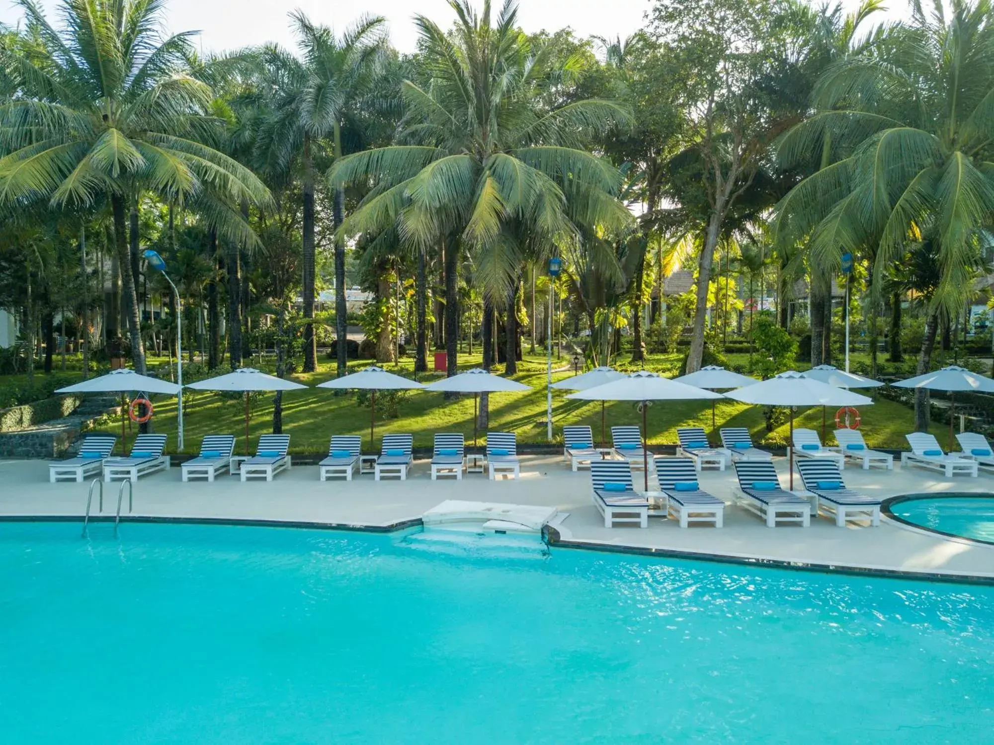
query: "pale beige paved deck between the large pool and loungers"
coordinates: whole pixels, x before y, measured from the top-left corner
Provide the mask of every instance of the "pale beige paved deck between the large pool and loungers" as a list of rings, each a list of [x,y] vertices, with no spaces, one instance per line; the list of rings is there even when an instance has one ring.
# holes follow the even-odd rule
[[[221,476],[213,484],[182,483],[180,469],[143,477],[134,489],[133,517],[230,521],[313,522],[387,529],[419,521],[445,500],[555,507],[569,513],[557,529],[563,541],[589,548],[633,550],[701,558],[769,561],[842,570],[905,572],[923,577],[994,581],[994,545],[945,538],[882,519],[879,527],[836,527],[834,520],[812,520],[810,527],[766,527],[735,506],[733,470],[705,471],[701,488],[729,503],[725,526],[691,526],[652,518],[647,528],[606,528],[590,500],[589,473],[574,473],[561,458],[523,456],[521,478],[489,481],[466,474],[462,481],[431,481],[426,461],[416,461],[407,481],[318,481],[316,466],[294,466],[272,482],[243,484]],[[786,460],[775,458],[780,481],[787,484]],[[944,479],[933,471],[896,465],[894,471],[848,467],[847,486],[869,495],[910,493],[994,493],[994,475]],[[636,484],[641,472],[634,474]],[[0,520],[11,517],[82,519],[87,484],[48,481],[48,462],[0,460]],[[800,479],[795,475],[795,488]],[[119,486],[104,485],[103,517],[113,516]],[[650,489],[652,480],[650,477]],[[126,511],[126,507],[125,507]],[[95,498],[93,513],[96,513]]]

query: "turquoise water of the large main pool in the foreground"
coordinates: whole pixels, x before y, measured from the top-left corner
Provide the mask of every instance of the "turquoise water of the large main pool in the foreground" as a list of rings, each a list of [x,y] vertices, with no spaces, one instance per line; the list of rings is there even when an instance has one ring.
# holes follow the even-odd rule
[[[0,523],[0,740],[945,743],[994,588],[401,536]]]

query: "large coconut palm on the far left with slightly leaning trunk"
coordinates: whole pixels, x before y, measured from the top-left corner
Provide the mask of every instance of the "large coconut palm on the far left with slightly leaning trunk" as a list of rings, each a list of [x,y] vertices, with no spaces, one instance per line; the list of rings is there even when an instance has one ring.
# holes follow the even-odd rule
[[[25,34],[0,47],[12,89],[0,107],[0,205],[85,209],[109,197],[132,358],[144,373],[129,206],[143,190],[179,203],[206,187],[235,203],[268,192],[204,144],[221,123],[205,113],[210,88],[185,73],[192,32],[159,36],[159,0],[63,0],[59,29],[33,0],[18,4]]]

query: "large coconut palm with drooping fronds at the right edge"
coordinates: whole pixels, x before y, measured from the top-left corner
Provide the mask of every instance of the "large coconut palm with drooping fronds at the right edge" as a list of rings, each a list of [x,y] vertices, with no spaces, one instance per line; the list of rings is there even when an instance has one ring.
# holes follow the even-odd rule
[[[821,152],[842,157],[780,203],[779,228],[809,235],[815,266],[872,253],[874,292],[913,246],[928,245],[940,270],[926,316],[918,373],[928,370],[940,312],[962,308],[994,209],[994,17],[988,0],[936,0],[880,34],[818,82],[817,112],[780,147],[784,163]],[[915,424],[927,410],[915,401]]]

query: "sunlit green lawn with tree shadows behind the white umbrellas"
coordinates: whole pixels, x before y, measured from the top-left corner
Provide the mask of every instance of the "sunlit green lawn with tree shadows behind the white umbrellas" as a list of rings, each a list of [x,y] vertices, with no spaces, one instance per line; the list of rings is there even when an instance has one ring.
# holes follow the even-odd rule
[[[650,369],[672,373],[671,361],[655,357]],[[674,358],[676,356],[673,356]],[[314,385],[329,379],[334,374],[332,361],[319,361],[319,371],[311,374],[298,374],[294,379]],[[478,355],[460,355],[460,369],[468,369],[480,363]],[[361,369],[368,362],[354,363],[351,367]],[[568,365],[564,357],[559,365]],[[554,367],[557,362],[554,360]],[[388,366],[392,371],[412,373],[413,361],[405,360],[399,367]],[[526,356],[520,364],[521,373],[516,379],[534,386],[525,393],[497,393],[490,398],[490,429],[517,432],[521,443],[545,443],[546,390],[545,361],[540,357]],[[569,372],[554,373],[554,379],[572,375]],[[435,378],[431,374],[427,378]],[[589,424],[595,438],[600,432],[600,403],[568,400],[566,391],[554,391],[553,420],[554,432],[560,436],[565,424]],[[170,450],[176,445],[176,400],[160,396],[156,402],[155,431],[169,434]],[[861,412],[862,431],[867,441],[879,447],[905,447],[904,435],[913,429],[912,412],[906,406],[894,401],[878,398],[876,405]],[[410,393],[401,404],[400,417],[387,421],[378,420],[376,439],[388,433],[410,432],[414,434],[415,447],[431,445],[435,432],[461,431],[471,441],[473,435],[473,399],[466,396],[446,401],[441,393]],[[829,411],[831,417],[834,411]],[[641,416],[631,403],[616,402],[606,405],[607,427],[611,424],[640,424]],[[249,429],[251,447],[258,435],[271,431],[272,397],[263,394],[252,410]],[[211,393],[187,391],[184,395],[184,423],[186,432],[185,452],[196,452],[201,437],[209,433],[231,433],[239,436],[238,450],[245,448],[244,405],[240,400],[223,399]],[[354,393],[335,395],[333,391],[321,388],[289,391],[283,394],[283,432],[291,435],[291,452],[318,453],[326,451],[331,434],[358,434],[363,436],[364,449],[369,449],[370,410],[356,403]],[[649,439],[653,443],[675,443],[676,428],[684,425],[700,425],[711,431],[711,406],[704,401],[669,402],[657,401],[648,415]],[[747,427],[756,441],[766,440],[771,444],[783,444],[788,437],[788,427],[784,424],[772,433],[765,430],[762,407],[727,401],[717,406],[717,425]],[[807,409],[799,413],[795,426],[820,428],[821,409]],[[834,428],[828,420],[829,436]],[[119,433],[120,424],[108,422],[101,429]],[[941,435],[945,430],[941,425],[933,426],[933,432]],[[608,432],[608,437],[609,437]],[[717,433],[715,435],[717,438]],[[130,435],[129,435],[130,439]],[[941,439],[941,438],[940,438]],[[716,439],[717,441],[717,439]]]

